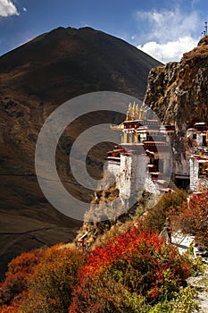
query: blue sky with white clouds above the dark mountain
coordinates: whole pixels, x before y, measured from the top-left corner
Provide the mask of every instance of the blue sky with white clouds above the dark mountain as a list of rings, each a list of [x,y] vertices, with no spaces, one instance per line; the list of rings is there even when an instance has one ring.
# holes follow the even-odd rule
[[[0,55],[59,26],[89,26],[163,63],[179,61],[207,20],[205,0],[0,0]]]

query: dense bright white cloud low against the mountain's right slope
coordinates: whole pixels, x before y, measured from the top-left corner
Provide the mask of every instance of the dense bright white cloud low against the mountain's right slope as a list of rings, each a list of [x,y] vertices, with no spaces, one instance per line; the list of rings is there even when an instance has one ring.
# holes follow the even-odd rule
[[[179,61],[182,55],[196,47],[198,40],[191,37],[181,37],[175,41],[168,41],[164,44],[158,44],[155,41],[147,42],[144,46],[137,48],[151,55],[154,59],[162,63]]]

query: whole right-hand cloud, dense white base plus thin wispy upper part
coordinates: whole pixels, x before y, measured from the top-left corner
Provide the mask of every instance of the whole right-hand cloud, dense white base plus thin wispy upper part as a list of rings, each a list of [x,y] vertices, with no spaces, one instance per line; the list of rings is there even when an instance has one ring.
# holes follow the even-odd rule
[[[199,38],[200,19],[198,13],[184,13],[174,10],[152,10],[137,12],[137,18],[143,26],[143,41],[138,48],[152,55],[162,63],[179,61],[183,53],[196,47]],[[200,31],[198,32],[200,34]]]

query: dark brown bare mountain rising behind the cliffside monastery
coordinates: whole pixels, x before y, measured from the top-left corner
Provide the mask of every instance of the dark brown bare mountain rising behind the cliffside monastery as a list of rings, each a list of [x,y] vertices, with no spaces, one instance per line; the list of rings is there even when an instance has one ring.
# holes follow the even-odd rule
[[[70,241],[80,225],[47,203],[37,184],[34,151],[46,117],[64,101],[97,90],[143,98],[147,74],[159,64],[123,40],[88,28],[59,28],[0,57],[1,275],[16,254]],[[69,150],[83,128],[105,119],[96,114],[78,121],[57,150],[57,165],[71,192],[87,200],[72,181]],[[107,149],[102,145],[89,154],[96,177]]]

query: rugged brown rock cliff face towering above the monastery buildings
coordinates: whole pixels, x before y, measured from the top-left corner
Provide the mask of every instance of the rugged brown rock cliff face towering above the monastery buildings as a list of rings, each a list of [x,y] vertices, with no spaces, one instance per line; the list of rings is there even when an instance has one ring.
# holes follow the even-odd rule
[[[179,63],[167,63],[149,73],[145,102],[163,123],[175,123],[177,133],[208,114],[208,36],[183,55]]]

